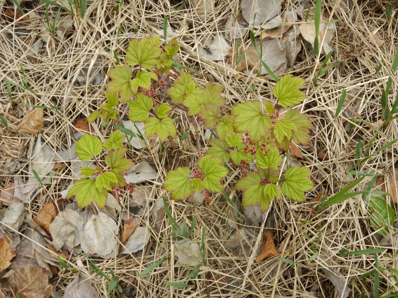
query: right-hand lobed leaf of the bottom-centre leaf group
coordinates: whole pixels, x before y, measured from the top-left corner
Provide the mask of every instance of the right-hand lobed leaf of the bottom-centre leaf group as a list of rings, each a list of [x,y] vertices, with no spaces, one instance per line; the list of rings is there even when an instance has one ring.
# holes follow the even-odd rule
[[[222,166],[222,159],[215,155],[205,155],[199,159],[198,169],[202,169],[205,174],[203,187],[211,192],[222,192],[224,188],[220,180],[228,174],[228,169]]]

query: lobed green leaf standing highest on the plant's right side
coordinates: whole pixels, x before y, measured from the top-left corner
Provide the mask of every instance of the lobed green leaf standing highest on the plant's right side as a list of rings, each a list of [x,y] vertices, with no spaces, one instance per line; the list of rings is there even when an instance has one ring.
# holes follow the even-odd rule
[[[272,93],[279,99],[281,106],[295,106],[306,97],[303,92],[298,90],[304,82],[305,80],[300,77],[293,77],[291,74],[284,75],[275,84]]]

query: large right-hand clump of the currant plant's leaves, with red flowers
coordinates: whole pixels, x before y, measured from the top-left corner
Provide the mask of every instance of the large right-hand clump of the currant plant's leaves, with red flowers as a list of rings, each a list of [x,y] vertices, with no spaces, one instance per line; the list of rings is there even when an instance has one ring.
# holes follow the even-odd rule
[[[224,104],[222,87],[208,83],[201,90],[190,74],[182,72],[168,90],[172,103],[187,106],[188,115],[199,116],[203,126],[214,128],[217,135],[209,140],[211,147],[192,172],[181,167],[167,174],[164,188],[171,192],[172,199],[185,199],[199,190],[211,200],[210,192],[223,191],[220,180],[228,174],[223,164],[232,162],[242,173],[234,187],[243,192],[242,205],[259,204],[264,212],[281,192],[294,201],[305,201],[304,192],[313,188],[308,177],[311,171],[294,166],[281,175],[279,150],[289,151],[292,142],[308,145],[310,130],[314,128],[308,117],[297,109],[290,108],[285,114],[279,114],[276,108],[277,104],[293,107],[301,103],[305,98],[299,91],[303,83],[303,79],[285,75],[273,89],[276,103],[238,103],[230,114],[220,115]],[[254,172],[249,170],[252,162],[257,168]]]

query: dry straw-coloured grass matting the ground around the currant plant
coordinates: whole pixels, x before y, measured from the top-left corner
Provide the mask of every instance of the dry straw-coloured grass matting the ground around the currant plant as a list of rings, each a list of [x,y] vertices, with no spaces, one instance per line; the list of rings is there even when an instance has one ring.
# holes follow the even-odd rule
[[[165,15],[168,16],[172,29],[169,35],[179,37],[178,62],[203,74],[195,77],[198,85],[203,86],[210,80],[225,86],[223,96],[226,98],[226,110],[238,102],[272,98],[271,90],[275,82],[269,76],[252,75],[253,67],[238,72],[231,69],[225,74],[216,66],[216,62],[198,53],[200,45],[210,34],[226,37],[226,43],[232,47],[236,45],[236,40],[239,41],[239,46],[250,45],[247,34],[235,39],[226,29],[226,21],[238,14],[240,1],[216,1],[215,8],[209,9],[207,15],[193,8],[189,1],[177,12],[181,2],[154,2],[125,1],[115,12],[116,2],[88,1],[84,19],[77,14],[70,18],[67,12],[61,11],[55,37],[52,37],[46,29],[44,3],[33,1],[21,4],[23,10],[29,13],[32,22],[29,23],[19,12],[15,17],[14,4],[6,0],[0,1],[0,114],[9,126],[9,129],[0,126],[0,188],[15,181],[17,177],[21,178],[23,185],[33,184],[33,188],[38,186],[29,170],[31,157],[37,151],[34,146],[38,134],[20,134],[17,129],[21,118],[33,108],[21,105],[53,107],[52,102],[55,103],[60,114],[44,109],[41,142],[54,152],[70,148],[75,142],[73,130],[76,122],[105,101],[103,92],[108,83],[105,74],[116,64],[113,50],[123,62],[125,49],[132,38],[163,35]],[[321,54],[318,60],[310,43],[300,35],[300,50],[292,65],[283,70],[306,80],[302,91],[308,97],[298,108],[309,116],[315,128],[310,145],[300,147],[303,158],[291,156],[291,163],[307,166],[313,173],[315,187],[306,194],[306,202],[297,203],[282,197],[273,202],[262,218],[262,223],[261,218],[259,222],[247,218],[245,224],[238,226],[230,220],[232,208],[222,194],[217,195],[212,203],[199,205],[189,199],[171,201],[168,192],[162,188],[166,173],[177,166],[191,167],[196,163],[197,155],[203,154],[208,147],[205,130],[194,125],[181,110],[176,111],[174,117],[179,121],[179,134],[190,133],[185,141],[175,143],[176,147],[172,149],[168,149],[167,145],[161,148],[159,142],[154,142],[151,149],[133,149],[128,153],[134,163],[146,161],[157,173],[156,178],[135,184],[136,189],[141,191],[141,195],[137,195],[141,207],[139,212],[134,212],[139,213],[139,226],[148,228],[150,240],[144,250],[136,253],[116,254],[111,259],[90,255],[107,276],[111,276],[110,269],[113,269],[121,280],[120,285],[126,297],[359,297],[361,293],[375,296],[375,275],[358,279],[375,269],[375,255],[342,256],[338,253],[342,249],[352,252],[388,248],[378,254],[378,265],[380,268],[394,269],[397,267],[396,229],[390,229],[390,239],[377,236],[369,225],[368,203],[362,201],[361,195],[325,208],[320,213],[314,200],[322,197],[322,194],[330,197],[359,178],[347,174],[347,171],[353,166],[355,149],[360,140],[367,145],[374,139],[370,151],[362,155],[364,157],[398,137],[396,120],[378,130],[382,126],[380,97],[388,75],[392,75],[390,101],[398,86],[396,76],[390,71],[398,37],[396,11],[392,10],[392,17],[387,21],[384,5],[392,4],[392,1],[382,1],[382,5],[380,2],[322,1],[321,18],[325,21],[338,19],[338,23],[334,24],[337,26],[332,30],[329,45],[333,52],[327,65],[337,60],[341,61],[340,65],[330,68],[318,78],[315,85],[312,79],[322,66],[324,55]],[[282,11],[293,11],[304,6],[302,17],[285,24],[298,30],[298,26],[305,23],[305,14],[310,4],[306,1],[285,1]],[[50,14],[54,15],[56,11],[53,7]],[[313,19],[311,10],[308,22]],[[257,37],[260,35],[259,29],[254,32]],[[226,64],[228,59],[230,57],[224,59]],[[384,66],[377,72],[382,61],[385,62]],[[10,99],[5,79],[23,85],[21,68],[33,92],[11,86]],[[335,118],[343,89],[347,90],[345,105]],[[121,106],[120,112],[123,111],[124,107]],[[199,131],[196,132],[195,128],[198,127]],[[100,122],[95,122],[90,130],[102,139],[110,132]],[[377,173],[382,178],[382,186],[387,191],[394,190],[394,170],[390,169],[396,166],[397,146],[394,144],[373,155],[357,170]],[[72,175],[73,162],[70,159],[60,161],[60,168],[50,182],[39,187],[40,191],[34,198],[23,198],[23,216],[26,215],[26,218],[18,230],[7,230],[4,226],[3,230],[0,229],[0,236],[11,239],[12,245],[18,244],[16,239],[21,241],[26,237],[37,243],[38,240],[32,240],[29,236],[32,234],[27,233],[27,230],[35,228],[31,218],[36,217],[45,204],[58,201],[57,208],[64,208],[66,202],[61,203],[61,193],[76,178]],[[44,161],[48,164],[52,162]],[[54,164],[51,165],[54,167]],[[45,176],[52,173],[49,171]],[[29,178],[33,180],[28,183]],[[239,194],[233,190],[233,182],[237,178],[233,176],[224,181],[224,188],[239,205]],[[365,190],[371,179],[372,176],[365,177],[354,190]],[[114,210],[111,215],[120,235],[123,221],[133,216],[128,212],[132,209],[128,209],[131,201],[127,197],[128,193],[123,192],[121,209]],[[197,225],[190,236],[193,241],[200,242],[205,231],[205,261],[192,288],[175,288],[166,284],[166,281],[181,282],[188,273],[174,256],[176,240],[169,236],[170,222],[167,217],[160,218],[152,212],[156,210],[154,202],[162,197],[166,198],[173,217],[179,223],[185,221],[190,226],[195,215]],[[391,204],[395,210],[396,204]],[[1,214],[8,208],[0,204]],[[241,229],[240,237],[236,236],[236,228]],[[277,257],[293,260],[294,264],[285,263],[276,257],[255,262],[265,230],[273,232],[279,253]],[[49,239],[48,236],[45,238]],[[144,277],[137,277],[141,271],[169,254],[170,259],[162,265]],[[70,267],[76,268],[83,279],[92,282],[100,297],[106,296],[108,282],[90,269],[82,255],[68,254],[65,257]],[[57,265],[57,259],[53,258],[51,264]],[[53,267],[53,272],[50,272],[51,268],[46,266],[41,267],[47,268],[45,272],[51,276],[49,284],[54,287],[53,297],[62,297],[65,288],[71,283],[70,278],[76,274],[68,269],[55,270]],[[10,268],[0,272],[0,277],[9,273]],[[5,291],[5,294],[0,291],[0,297],[15,297],[7,282],[10,283],[8,278],[0,279],[0,286]],[[396,283],[396,277],[390,271],[382,271],[379,294],[396,292]]]

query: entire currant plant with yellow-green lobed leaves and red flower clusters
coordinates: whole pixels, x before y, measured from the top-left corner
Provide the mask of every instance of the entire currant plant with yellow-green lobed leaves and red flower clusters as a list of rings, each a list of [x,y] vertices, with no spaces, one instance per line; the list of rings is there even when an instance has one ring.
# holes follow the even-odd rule
[[[292,108],[305,98],[305,94],[299,91],[304,80],[285,75],[273,89],[274,103],[248,101],[236,104],[229,113],[223,113],[222,86],[209,82],[200,88],[190,73],[171,74],[172,58],[178,50],[176,39],[169,43],[162,43],[160,37],[133,39],[127,48],[127,65],[115,66],[107,73],[111,78],[105,93],[107,102],[88,117],[89,122],[101,118],[117,127],[118,110],[123,109],[120,105],[128,104],[129,120],[143,122],[146,137],[156,135],[163,143],[177,136],[172,112],[183,107],[187,116],[198,117],[204,128],[211,128],[215,133],[209,140],[211,147],[199,157],[197,165],[192,169],[179,167],[168,172],[164,189],[171,192],[172,199],[182,200],[199,191],[205,193],[207,201],[211,201],[211,194],[224,191],[221,181],[228,175],[228,168],[235,168],[241,172],[234,189],[243,192],[242,205],[259,203],[261,211],[265,211],[281,193],[295,201],[304,201],[304,192],[313,188],[308,177],[310,170],[301,166],[285,171],[280,169],[280,151],[289,151],[293,143],[308,145],[310,130],[314,129],[306,115]],[[171,77],[177,79],[168,88]],[[290,109],[280,114],[277,104]],[[101,166],[94,172],[82,169],[86,178],[76,182],[77,185],[69,191],[69,196],[80,196],[81,201],[83,196],[86,198],[79,206],[91,201],[103,206],[109,188],[125,185],[123,170],[116,163],[127,168],[132,162],[124,157],[127,149],[119,147],[123,146],[123,137],[118,136],[119,132],[113,134],[115,132],[104,144],[87,136],[87,140],[79,141],[81,145],[76,146],[76,152],[84,147],[84,152],[78,156],[86,160],[100,154],[103,147],[109,151],[105,164],[110,174],[105,174]],[[89,137],[91,143],[88,142]],[[110,164],[109,160],[113,163]],[[250,171],[251,163],[255,164],[255,171]],[[92,178],[94,174],[97,174],[96,179]],[[105,184],[110,184],[110,187]],[[81,194],[83,189],[88,196]]]

